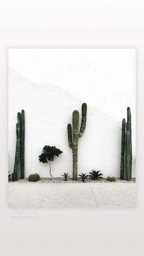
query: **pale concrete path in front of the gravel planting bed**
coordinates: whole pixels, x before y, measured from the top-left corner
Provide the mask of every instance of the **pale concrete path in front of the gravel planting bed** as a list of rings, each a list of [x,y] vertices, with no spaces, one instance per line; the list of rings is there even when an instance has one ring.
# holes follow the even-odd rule
[[[9,207],[130,208],[135,183],[9,183]]]

